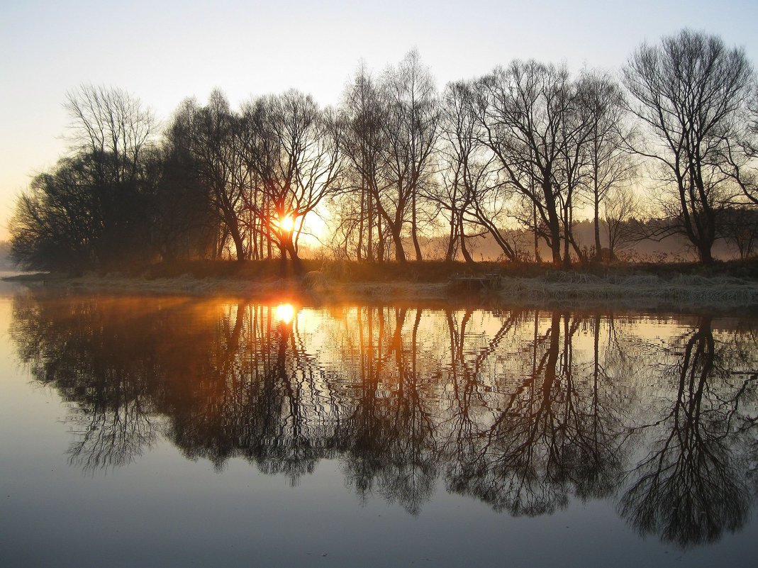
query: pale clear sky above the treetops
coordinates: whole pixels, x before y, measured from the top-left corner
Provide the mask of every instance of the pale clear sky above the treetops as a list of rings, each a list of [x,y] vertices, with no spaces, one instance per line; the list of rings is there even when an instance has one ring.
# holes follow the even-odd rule
[[[442,88],[514,58],[618,71],[641,42],[690,27],[758,61],[758,2],[0,0],[0,240],[16,197],[65,152],[66,93],[126,89],[168,120],[212,89],[232,105],[289,88],[336,105],[363,60],[418,49]]]

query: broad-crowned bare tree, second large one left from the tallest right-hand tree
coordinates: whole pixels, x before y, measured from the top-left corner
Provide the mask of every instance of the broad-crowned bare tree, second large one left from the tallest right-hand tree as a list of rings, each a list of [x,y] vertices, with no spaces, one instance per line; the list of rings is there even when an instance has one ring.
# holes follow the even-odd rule
[[[578,184],[584,119],[572,120],[573,96],[565,68],[513,61],[478,86],[482,142],[492,149],[506,182],[534,206],[553,262],[562,262],[561,239],[571,239],[572,192]],[[567,223],[568,219],[568,223]],[[529,222],[529,221],[526,221]]]

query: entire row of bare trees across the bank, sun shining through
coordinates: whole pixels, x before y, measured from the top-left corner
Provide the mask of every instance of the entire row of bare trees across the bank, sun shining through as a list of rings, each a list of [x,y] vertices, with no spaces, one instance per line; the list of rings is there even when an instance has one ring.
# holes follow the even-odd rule
[[[66,108],[70,151],[11,220],[24,268],[297,261],[313,215],[332,256],[371,262],[422,260],[432,238],[437,258],[473,262],[486,236],[503,259],[568,265],[672,235],[710,262],[717,240],[744,257],[758,234],[756,74],[691,30],[641,45],[619,79],[512,61],[440,92],[412,51],[359,66],[336,108],[290,90],[235,110],[214,91],[160,128],[100,86]],[[587,212],[591,246],[574,231]]]

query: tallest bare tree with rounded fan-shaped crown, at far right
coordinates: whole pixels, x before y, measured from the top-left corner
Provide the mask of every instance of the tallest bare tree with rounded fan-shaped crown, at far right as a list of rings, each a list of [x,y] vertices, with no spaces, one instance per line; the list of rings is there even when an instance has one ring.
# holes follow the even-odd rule
[[[752,71],[744,50],[718,36],[682,30],[659,45],[644,43],[623,70],[631,111],[652,139],[637,146],[659,165],[669,233],[684,234],[702,262],[711,262],[719,212],[731,199],[723,172],[725,141],[749,93]]]

